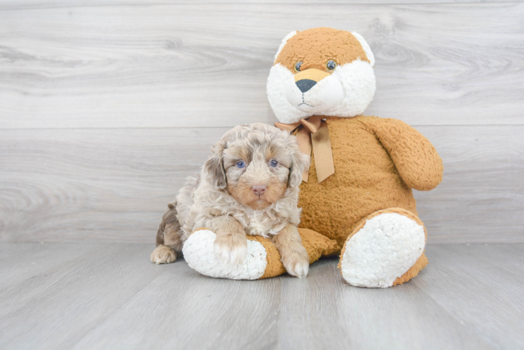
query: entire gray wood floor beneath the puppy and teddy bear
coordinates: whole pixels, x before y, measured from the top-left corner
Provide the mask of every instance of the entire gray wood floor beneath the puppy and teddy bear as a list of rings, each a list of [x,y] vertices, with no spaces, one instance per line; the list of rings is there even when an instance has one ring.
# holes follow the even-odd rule
[[[524,244],[427,246],[388,289],[211,279],[151,244],[0,244],[1,349],[522,349]]]

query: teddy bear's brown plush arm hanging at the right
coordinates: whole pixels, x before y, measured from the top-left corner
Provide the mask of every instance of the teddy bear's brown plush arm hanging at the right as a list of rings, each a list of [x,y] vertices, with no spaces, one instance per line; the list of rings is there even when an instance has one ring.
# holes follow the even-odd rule
[[[408,186],[428,191],[439,185],[442,159],[420,132],[396,119],[373,118],[365,124],[375,132]]]

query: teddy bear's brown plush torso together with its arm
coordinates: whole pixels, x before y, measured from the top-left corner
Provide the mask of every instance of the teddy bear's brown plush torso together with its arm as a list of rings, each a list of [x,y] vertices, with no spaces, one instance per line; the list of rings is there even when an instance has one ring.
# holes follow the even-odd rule
[[[359,221],[375,211],[399,207],[416,215],[411,188],[431,190],[442,180],[434,146],[400,120],[331,117],[327,123],[335,174],[317,183],[312,155],[298,202],[302,228],[342,247]]]

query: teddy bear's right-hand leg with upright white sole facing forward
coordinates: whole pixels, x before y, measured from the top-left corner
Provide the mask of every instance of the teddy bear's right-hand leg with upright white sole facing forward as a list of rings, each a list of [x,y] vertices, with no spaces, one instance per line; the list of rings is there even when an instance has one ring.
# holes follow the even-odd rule
[[[427,265],[426,237],[424,224],[411,211],[375,211],[347,238],[338,266],[352,286],[395,286],[409,281]]]

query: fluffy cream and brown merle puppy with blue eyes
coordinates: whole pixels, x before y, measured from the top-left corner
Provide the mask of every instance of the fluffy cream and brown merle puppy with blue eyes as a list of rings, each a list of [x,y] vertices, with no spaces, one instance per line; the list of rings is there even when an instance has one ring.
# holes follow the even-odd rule
[[[270,237],[287,272],[305,277],[309,258],[298,235],[297,204],[310,158],[299,151],[296,137],[270,125],[240,125],[224,134],[212,153],[200,176],[188,179],[168,205],[151,261],[174,262],[194,230],[209,228],[223,262],[244,260],[246,234]]]

